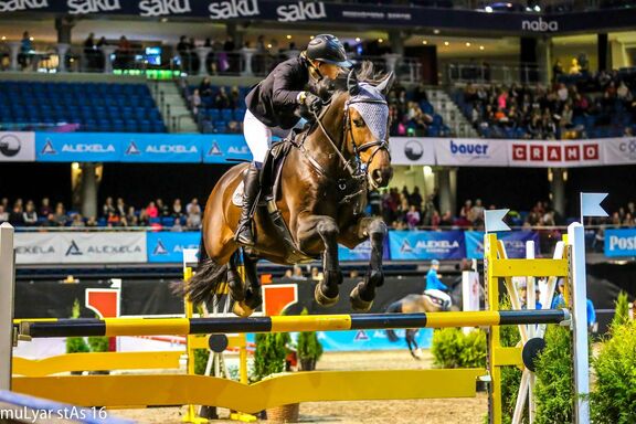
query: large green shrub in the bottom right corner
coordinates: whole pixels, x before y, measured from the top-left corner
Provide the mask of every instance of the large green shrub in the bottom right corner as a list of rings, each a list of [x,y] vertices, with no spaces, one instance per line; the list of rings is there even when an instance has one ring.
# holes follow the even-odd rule
[[[636,321],[613,324],[611,338],[603,341],[592,363],[596,373],[591,395],[593,422],[636,423]]]

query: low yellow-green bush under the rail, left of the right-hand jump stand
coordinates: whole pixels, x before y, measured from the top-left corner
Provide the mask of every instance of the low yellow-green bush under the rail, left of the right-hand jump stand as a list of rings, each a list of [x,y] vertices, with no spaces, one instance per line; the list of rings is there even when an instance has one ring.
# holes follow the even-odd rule
[[[433,332],[433,359],[441,368],[485,368],[486,333],[460,328],[443,328]]]

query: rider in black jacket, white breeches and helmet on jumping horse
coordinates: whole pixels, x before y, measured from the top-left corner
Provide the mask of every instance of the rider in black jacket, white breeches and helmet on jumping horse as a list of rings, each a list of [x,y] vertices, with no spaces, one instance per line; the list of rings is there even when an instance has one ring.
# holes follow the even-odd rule
[[[278,64],[245,97],[247,110],[243,131],[254,160],[243,179],[243,210],[234,236],[237,243],[254,245],[251,219],[261,190],[259,172],[272,144],[272,131],[289,130],[296,126],[300,120],[297,108],[301,105],[318,113],[322,100],[308,86],[326,77],[336,80],[341,68],[350,66],[344,47],[336,36],[316,35],[307,50],[298,57]]]

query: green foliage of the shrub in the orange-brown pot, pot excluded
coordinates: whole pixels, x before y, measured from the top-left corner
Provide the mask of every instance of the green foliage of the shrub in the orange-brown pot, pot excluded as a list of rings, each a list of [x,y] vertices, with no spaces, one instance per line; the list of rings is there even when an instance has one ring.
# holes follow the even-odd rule
[[[254,351],[254,380],[285,371],[285,358],[287,343],[292,340],[287,332],[257,333],[255,337],[256,350]]]

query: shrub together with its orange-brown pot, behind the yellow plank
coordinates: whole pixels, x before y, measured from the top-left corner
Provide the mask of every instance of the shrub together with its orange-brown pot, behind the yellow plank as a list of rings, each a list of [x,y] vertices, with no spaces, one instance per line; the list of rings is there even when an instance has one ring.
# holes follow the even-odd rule
[[[254,351],[254,381],[285,371],[285,359],[287,358],[287,346],[292,338],[287,332],[257,333],[255,337],[256,350]],[[278,423],[296,423],[300,405],[293,403],[271,407],[267,410],[267,420]]]

